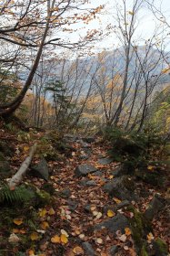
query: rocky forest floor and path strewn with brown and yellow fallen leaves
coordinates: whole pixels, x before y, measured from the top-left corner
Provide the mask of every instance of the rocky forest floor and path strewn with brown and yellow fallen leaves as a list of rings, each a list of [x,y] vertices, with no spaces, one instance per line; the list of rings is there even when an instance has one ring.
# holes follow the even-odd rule
[[[32,141],[30,134],[0,134],[5,179],[21,165]],[[46,139],[44,133],[34,136]],[[0,255],[168,255],[166,187],[129,176],[108,156],[110,144],[99,138],[67,135],[58,156],[53,154],[58,145],[51,143],[48,152],[35,155],[23,181],[41,196],[45,191],[44,203],[0,209]]]

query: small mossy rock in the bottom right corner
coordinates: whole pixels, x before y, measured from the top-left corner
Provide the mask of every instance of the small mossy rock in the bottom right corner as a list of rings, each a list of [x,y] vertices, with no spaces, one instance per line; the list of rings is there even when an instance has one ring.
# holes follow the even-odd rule
[[[164,240],[157,238],[153,241],[153,250],[155,251],[155,256],[167,256],[168,246]]]

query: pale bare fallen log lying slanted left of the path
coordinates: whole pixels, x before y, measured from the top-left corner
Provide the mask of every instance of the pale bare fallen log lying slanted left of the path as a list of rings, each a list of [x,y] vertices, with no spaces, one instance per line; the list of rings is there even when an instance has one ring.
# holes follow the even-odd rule
[[[9,182],[8,186],[10,189],[15,189],[15,187],[22,181],[23,176],[25,176],[25,172],[29,165],[31,164],[31,161],[33,159],[33,156],[35,155],[37,144],[34,144],[29,152],[29,155],[25,158],[25,161],[20,166],[19,170],[15,173],[15,176],[13,176]]]

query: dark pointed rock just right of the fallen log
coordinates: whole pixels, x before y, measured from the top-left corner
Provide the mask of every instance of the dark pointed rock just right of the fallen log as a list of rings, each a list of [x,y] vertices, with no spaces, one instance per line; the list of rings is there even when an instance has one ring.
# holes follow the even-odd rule
[[[31,167],[31,174],[33,176],[38,176],[45,180],[48,180],[49,169],[45,158],[41,159],[41,161],[37,165],[33,165]]]

